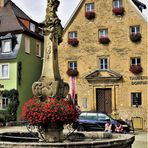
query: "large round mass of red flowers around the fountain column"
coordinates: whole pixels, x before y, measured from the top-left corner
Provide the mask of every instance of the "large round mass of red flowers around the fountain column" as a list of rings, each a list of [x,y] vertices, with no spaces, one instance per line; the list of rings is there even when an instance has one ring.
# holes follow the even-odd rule
[[[22,107],[23,120],[45,130],[63,128],[64,124],[76,121],[79,114],[75,104],[66,99],[48,98],[42,102],[38,97],[33,97]]]

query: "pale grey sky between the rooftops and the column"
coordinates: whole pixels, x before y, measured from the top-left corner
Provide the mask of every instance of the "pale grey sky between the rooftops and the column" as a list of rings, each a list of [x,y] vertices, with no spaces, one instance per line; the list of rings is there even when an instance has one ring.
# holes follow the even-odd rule
[[[12,0],[19,8],[21,8],[30,18],[37,22],[45,19],[47,0]],[[148,0],[139,0],[146,4],[147,9],[143,11],[148,18]],[[60,0],[58,8],[58,16],[64,26],[74,12],[80,0]]]

